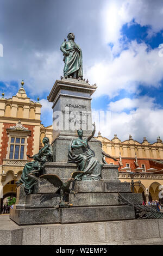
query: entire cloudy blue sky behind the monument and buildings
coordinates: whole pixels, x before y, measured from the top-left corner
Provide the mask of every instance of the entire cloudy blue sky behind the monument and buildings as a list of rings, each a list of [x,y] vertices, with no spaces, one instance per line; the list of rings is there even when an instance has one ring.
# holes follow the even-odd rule
[[[109,111],[98,126],[109,139],[153,143],[163,139],[163,3],[161,0],[0,0],[0,93],[24,89],[34,101],[40,96],[41,121],[52,124],[47,95],[62,75],[59,48],[69,32],[83,51],[84,77],[98,88],[94,111]],[[98,131],[97,131],[98,132]]]

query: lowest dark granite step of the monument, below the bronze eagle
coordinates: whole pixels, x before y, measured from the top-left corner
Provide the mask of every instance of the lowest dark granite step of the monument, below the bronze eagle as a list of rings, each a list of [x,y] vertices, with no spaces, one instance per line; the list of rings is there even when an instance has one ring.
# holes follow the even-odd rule
[[[18,225],[84,223],[131,220],[133,206],[96,206],[79,208],[11,209],[10,218]]]

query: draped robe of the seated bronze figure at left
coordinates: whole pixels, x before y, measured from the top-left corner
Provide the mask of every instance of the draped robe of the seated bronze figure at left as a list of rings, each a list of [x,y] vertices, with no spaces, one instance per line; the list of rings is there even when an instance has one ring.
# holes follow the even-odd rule
[[[42,164],[44,164],[45,162],[52,161],[52,156],[53,156],[52,146],[49,143],[39,150],[39,154],[41,152],[48,154],[48,155],[47,156],[42,155],[40,157],[40,162],[39,161],[31,161],[31,162],[26,163],[23,168],[21,178],[20,178],[20,180],[18,180],[18,183],[23,183],[23,186],[26,190],[32,190],[33,186],[37,182],[37,179],[35,178],[35,176],[28,175],[28,174],[31,173],[32,170],[34,170],[34,169],[36,170],[36,169],[41,168]],[[36,154],[36,155],[39,156],[39,154]]]

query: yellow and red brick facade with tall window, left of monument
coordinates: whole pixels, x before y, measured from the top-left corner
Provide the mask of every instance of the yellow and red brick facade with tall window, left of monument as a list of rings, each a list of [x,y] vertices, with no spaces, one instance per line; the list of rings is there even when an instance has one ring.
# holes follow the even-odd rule
[[[0,99],[0,198],[16,196],[15,182],[20,179],[29,155],[42,147],[43,137],[52,142],[52,126],[41,124],[41,104],[31,101],[24,82],[15,96]]]

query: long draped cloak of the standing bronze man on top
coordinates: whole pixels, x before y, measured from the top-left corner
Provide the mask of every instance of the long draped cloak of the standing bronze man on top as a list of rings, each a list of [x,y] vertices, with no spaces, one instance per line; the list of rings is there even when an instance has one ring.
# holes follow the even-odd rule
[[[79,52],[76,51],[73,46],[76,46]],[[79,45],[73,41],[63,42],[61,49],[63,52],[66,50],[68,53],[70,53],[69,56],[65,56],[64,58],[64,76],[70,76],[74,72],[78,71],[78,77],[83,77],[82,50],[80,49]]]

